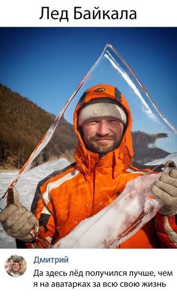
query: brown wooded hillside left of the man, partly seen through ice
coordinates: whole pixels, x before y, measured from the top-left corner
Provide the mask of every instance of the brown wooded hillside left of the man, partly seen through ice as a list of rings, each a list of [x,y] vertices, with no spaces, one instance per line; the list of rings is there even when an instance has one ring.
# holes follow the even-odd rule
[[[54,120],[54,114],[0,84],[0,169],[22,168]],[[33,166],[60,157],[67,149],[68,159],[72,160],[77,143],[73,125],[63,119],[55,138],[52,147],[45,148]]]

